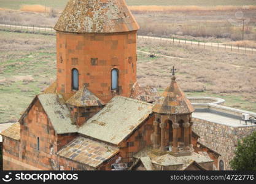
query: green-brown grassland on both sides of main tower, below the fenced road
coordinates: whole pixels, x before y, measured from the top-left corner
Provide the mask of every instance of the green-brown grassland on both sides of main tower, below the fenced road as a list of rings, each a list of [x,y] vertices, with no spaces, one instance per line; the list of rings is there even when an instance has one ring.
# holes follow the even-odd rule
[[[55,36],[0,31],[0,123],[17,121],[34,96],[55,81]],[[200,50],[139,39],[138,49],[174,56],[149,58],[138,53],[138,81],[169,84],[171,66],[189,96],[218,96],[227,105],[256,112],[255,56]],[[182,59],[180,59],[182,58]],[[251,69],[249,69],[251,67]]]

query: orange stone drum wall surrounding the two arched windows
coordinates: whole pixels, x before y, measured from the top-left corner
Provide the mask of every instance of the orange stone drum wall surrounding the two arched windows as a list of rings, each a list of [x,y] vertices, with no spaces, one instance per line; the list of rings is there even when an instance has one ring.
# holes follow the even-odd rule
[[[137,31],[125,33],[56,33],[57,91],[68,99],[72,69],[79,71],[79,88],[88,87],[104,102],[115,93],[130,97],[136,82]],[[118,91],[111,90],[111,71],[118,69]]]

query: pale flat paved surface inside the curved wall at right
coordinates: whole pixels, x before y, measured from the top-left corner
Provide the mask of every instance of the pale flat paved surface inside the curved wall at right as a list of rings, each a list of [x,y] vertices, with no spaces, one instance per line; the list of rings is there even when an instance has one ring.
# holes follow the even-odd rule
[[[223,114],[214,113],[214,112],[193,112],[192,117],[206,120],[206,121],[211,121],[213,123],[227,125],[227,126],[233,126],[233,127],[246,126],[244,121],[241,121],[240,123],[240,120],[238,118],[228,117],[228,115],[225,116]],[[247,126],[250,126],[250,125],[251,125],[250,123],[247,123]]]

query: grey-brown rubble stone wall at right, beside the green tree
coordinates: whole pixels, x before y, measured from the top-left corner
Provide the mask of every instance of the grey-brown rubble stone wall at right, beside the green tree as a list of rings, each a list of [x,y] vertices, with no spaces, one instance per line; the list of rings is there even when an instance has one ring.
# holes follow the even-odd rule
[[[238,140],[256,131],[256,126],[231,127],[197,118],[193,118],[193,121],[193,131],[200,136],[199,141],[222,155],[225,170],[231,170],[229,162],[235,156]]]

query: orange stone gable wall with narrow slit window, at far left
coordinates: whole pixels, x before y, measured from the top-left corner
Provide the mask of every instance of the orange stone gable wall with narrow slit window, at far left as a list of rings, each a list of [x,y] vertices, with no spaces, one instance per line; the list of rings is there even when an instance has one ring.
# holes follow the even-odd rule
[[[4,169],[10,170],[52,170],[56,169],[55,153],[57,150],[57,137],[42,109],[38,99],[24,117],[20,125],[20,144],[14,144],[14,156],[7,155],[4,148]],[[39,137],[39,150],[37,150],[37,137]],[[6,147],[8,143],[5,143]],[[13,148],[12,148],[13,149]],[[18,149],[18,150],[17,150]],[[18,157],[17,157],[18,155]]]

